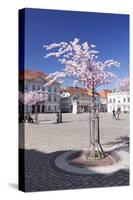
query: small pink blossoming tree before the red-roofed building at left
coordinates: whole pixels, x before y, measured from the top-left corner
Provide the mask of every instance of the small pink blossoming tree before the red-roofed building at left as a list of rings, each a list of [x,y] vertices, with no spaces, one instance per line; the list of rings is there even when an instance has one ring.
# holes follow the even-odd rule
[[[47,99],[46,92],[42,90],[34,91],[25,91],[24,93],[19,93],[20,102],[25,105],[34,105],[35,106],[35,123],[38,123],[38,112],[37,106],[40,103],[43,103]]]

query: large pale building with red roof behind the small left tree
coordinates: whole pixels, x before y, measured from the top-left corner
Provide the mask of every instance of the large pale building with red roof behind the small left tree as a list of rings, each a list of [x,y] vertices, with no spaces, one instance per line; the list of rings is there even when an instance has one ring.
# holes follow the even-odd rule
[[[28,73],[28,75],[26,74]],[[38,74],[38,72],[32,71],[34,76],[30,76],[29,71],[25,72],[24,78],[24,90],[25,91],[34,91],[34,90],[43,90],[47,94],[46,100],[43,103],[37,105],[38,113],[52,113],[58,112],[60,110],[60,84],[53,83],[52,85],[45,86],[46,77],[43,76],[43,72]],[[26,112],[35,112],[35,105],[25,105]]]

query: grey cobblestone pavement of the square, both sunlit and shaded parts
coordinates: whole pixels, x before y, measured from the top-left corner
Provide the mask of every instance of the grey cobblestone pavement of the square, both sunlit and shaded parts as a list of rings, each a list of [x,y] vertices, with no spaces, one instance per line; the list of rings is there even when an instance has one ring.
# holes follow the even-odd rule
[[[129,115],[119,121],[111,114],[100,116],[103,145],[123,144],[128,151]],[[61,190],[123,186],[129,184],[129,171],[119,170],[110,175],[79,175],[59,170],[54,159],[61,153],[87,148],[89,141],[88,114],[64,114],[63,123],[55,123],[55,115],[39,115],[40,124],[25,125],[25,191]],[[20,135],[20,138],[23,138]],[[21,140],[22,141],[22,140]],[[22,144],[20,142],[20,152]]]

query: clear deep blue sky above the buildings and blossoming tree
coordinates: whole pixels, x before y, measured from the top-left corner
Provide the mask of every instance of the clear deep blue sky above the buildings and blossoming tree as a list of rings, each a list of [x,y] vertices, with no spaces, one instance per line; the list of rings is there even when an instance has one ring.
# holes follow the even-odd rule
[[[25,66],[27,69],[55,72],[62,69],[56,58],[44,59],[44,44],[72,41],[96,44],[99,59],[114,59],[121,63],[113,70],[120,78],[129,73],[129,16],[43,9],[26,9]],[[114,83],[103,86],[113,88]]]

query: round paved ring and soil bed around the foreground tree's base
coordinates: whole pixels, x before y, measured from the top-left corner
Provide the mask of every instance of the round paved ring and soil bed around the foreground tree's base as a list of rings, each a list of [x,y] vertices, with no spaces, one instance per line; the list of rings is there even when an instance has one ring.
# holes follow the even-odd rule
[[[87,157],[85,151],[67,151],[55,158],[54,165],[59,170],[72,174],[111,174],[121,169],[129,170],[129,153],[107,149],[104,158],[94,159]]]

